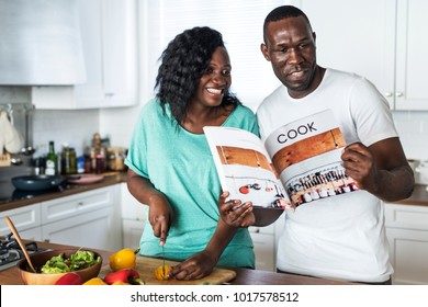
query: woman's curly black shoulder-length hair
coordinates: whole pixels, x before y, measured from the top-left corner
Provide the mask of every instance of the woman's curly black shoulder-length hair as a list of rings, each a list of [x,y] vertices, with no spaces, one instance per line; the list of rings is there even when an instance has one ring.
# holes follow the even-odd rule
[[[184,118],[187,104],[217,47],[225,47],[222,34],[207,26],[196,26],[177,35],[161,54],[155,84],[155,89],[158,89],[156,96],[164,112],[165,104],[170,105],[177,124]],[[238,103],[239,100],[228,91],[222,101],[222,105]]]

